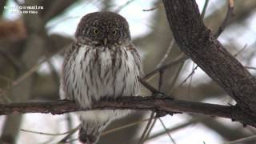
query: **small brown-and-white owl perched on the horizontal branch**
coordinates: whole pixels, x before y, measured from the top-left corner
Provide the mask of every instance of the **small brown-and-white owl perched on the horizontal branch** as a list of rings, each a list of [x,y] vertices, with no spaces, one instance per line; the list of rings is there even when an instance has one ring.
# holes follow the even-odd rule
[[[137,96],[141,60],[131,42],[126,18],[112,12],[86,14],[78,24],[75,42],[65,52],[60,95],[82,108],[101,99]],[[77,112],[82,126],[78,139],[96,143],[102,130],[130,110]]]

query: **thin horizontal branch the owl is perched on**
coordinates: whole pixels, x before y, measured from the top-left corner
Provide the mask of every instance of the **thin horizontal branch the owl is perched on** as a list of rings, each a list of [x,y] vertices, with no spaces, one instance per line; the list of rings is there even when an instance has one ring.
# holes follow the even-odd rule
[[[201,102],[186,102],[173,100],[167,96],[150,96],[150,97],[122,97],[117,100],[101,101],[91,110],[152,110],[163,111],[166,113],[189,113],[202,114],[208,116],[217,116],[222,118],[236,118],[236,114],[242,111],[237,106],[222,106]],[[68,100],[59,100],[55,102],[24,102],[12,104],[0,104],[0,115],[6,114],[25,114],[25,113],[51,113],[64,114],[74,111],[89,110],[79,108],[77,104]],[[246,119],[237,119],[245,122]],[[250,123],[246,123],[250,124]]]

